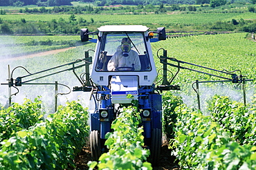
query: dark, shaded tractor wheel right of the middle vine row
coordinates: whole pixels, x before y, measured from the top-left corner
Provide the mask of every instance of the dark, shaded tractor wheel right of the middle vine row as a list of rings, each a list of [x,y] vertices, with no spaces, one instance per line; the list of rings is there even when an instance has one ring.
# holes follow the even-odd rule
[[[161,129],[153,129],[152,131],[152,146],[150,147],[150,155],[152,158],[152,165],[157,166],[160,158],[161,146],[162,146],[162,133]]]

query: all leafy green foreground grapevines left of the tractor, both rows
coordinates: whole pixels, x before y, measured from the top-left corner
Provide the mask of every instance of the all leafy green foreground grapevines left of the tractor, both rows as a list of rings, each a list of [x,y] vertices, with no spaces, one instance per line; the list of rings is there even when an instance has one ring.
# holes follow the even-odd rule
[[[1,133],[5,136],[1,138],[0,169],[75,167],[75,154],[88,136],[85,109],[77,102],[68,102],[44,119],[40,110],[39,100],[1,110]]]

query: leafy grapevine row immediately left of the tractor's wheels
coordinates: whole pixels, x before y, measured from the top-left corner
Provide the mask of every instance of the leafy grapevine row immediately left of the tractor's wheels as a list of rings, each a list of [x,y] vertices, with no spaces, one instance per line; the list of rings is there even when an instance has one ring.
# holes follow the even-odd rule
[[[88,113],[77,102],[1,142],[0,169],[67,169],[88,136]]]

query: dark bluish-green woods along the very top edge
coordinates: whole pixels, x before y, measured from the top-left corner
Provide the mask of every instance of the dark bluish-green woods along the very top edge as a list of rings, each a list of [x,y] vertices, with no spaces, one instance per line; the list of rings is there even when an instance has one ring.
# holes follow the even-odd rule
[[[92,3],[95,6],[109,5],[159,5],[163,4],[203,4],[210,3],[212,6],[221,6],[226,3],[256,3],[256,0],[0,0],[0,6],[71,6],[72,1]]]

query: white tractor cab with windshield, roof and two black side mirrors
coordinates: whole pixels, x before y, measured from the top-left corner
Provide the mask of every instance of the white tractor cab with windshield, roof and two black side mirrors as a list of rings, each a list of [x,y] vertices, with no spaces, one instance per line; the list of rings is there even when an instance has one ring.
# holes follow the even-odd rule
[[[129,77],[134,75],[138,78],[139,86],[151,86],[157,73],[150,46],[150,37],[152,37],[150,33],[152,32],[148,32],[149,28],[146,26],[101,26],[98,30],[98,41],[91,69],[93,82],[99,86],[108,86],[113,75]],[[165,29],[158,28],[158,30],[160,30],[158,33],[161,32],[158,39],[165,39]],[[89,35],[93,33],[95,32],[88,32],[86,28],[82,29],[82,41],[88,41]],[[128,53],[122,49],[122,39],[129,41],[131,49]],[[135,55],[138,55],[138,59]],[[115,70],[108,69],[109,60],[113,56],[116,59],[112,62],[127,61],[127,64],[116,65]],[[131,59],[131,57],[134,58]],[[140,66],[132,64],[140,64]]]

